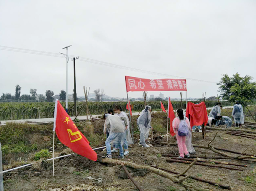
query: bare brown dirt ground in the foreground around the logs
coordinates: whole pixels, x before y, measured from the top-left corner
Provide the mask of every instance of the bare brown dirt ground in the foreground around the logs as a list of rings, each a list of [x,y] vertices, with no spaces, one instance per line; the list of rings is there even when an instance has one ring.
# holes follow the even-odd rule
[[[228,135],[224,131],[207,131],[206,139],[202,139],[199,132],[193,133],[193,144],[207,145],[217,133],[216,139],[211,144],[228,150],[242,152],[246,148],[246,153],[256,155],[256,140]],[[166,138],[161,141],[167,141]],[[169,137],[168,142],[176,142],[175,137]],[[152,143],[154,147],[143,148],[139,144],[130,147],[130,153],[125,157],[125,161],[134,162],[141,165],[155,165],[172,171],[182,171],[188,164],[168,163],[166,158],[160,154],[177,153],[178,147]],[[210,150],[195,148],[196,154],[217,156]],[[101,153],[102,150],[98,150]],[[62,155],[65,153],[62,153]],[[229,153],[230,154],[230,153]],[[233,154],[236,155],[236,154]],[[117,159],[114,154],[113,158]],[[214,159],[217,160],[217,159]],[[219,159],[218,159],[219,160]],[[219,160],[221,161],[221,160]],[[230,185],[233,191],[255,191],[256,190],[256,163],[240,160],[222,160],[237,164],[247,164],[247,167],[239,167],[244,171],[235,171],[221,168],[204,167],[194,165],[187,174],[217,182],[218,184]],[[147,171],[135,171],[134,179],[144,191],[183,191],[185,188],[179,184]],[[4,174],[5,191],[136,191],[137,189],[120,166],[100,164],[90,161],[77,154],[55,160],[55,177],[53,177],[52,163],[44,162],[36,166],[22,168]],[[223,190],[217,186],[196,181],[186,180],[198,187],[211,189],[213,191]]]

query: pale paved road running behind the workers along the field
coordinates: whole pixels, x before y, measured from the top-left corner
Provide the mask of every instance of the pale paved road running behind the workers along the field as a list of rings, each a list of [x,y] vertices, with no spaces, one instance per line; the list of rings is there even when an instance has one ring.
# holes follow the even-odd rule
[[[226,108],[233,108],[233,106],[228,106],[228,107],[223,107],[223,109]],[[212,108],[207,108],[207,109],[212,109]],[[153,112],[154,113],[154,112]],[[128,114],[128,113],[127,113]],[[139,115],[139,112],[134,112],[133,115]],[[93,118],[97,118],[101,115],[93,115]],[[70,117],[72,120],[75,119],[75,117]],[[79,120],[84,120],[87,119],[87,116],[77,116],[77,119]],[[88,116],[88,119],[90,119],[90,117]],[[7,120],[7,121],[1,121],[2,125],[8,123],[8,122],[15,122],[15,123],[52,123],[54,122],[54,118],[43,118],[43,119],[18,119],[18,120]]]

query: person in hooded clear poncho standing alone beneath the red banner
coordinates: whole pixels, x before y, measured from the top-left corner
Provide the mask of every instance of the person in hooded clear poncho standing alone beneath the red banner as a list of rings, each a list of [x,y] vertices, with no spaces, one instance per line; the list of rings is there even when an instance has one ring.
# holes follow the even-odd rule
[[[140,130],[140,144],[142,147],[150,147],[146,144],[145,139],[148,138],[151,127],[151,106],[146,106],[142,110],[139,118],[137,119],[137,126]]]

